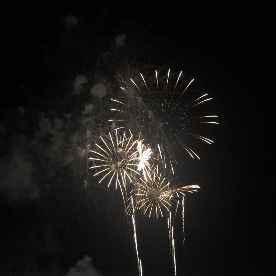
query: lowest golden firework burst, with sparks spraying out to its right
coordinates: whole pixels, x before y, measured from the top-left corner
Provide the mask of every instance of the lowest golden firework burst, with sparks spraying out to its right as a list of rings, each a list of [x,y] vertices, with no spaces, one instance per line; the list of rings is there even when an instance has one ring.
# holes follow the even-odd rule
[[[197,189],[200,188],[198,185],[177,187],[173,183],[174,177],[166,177],[162,175],[162,172],[158,172],[158,165],[152,165],[149,172],[150,175],[147,178],[144,175],[141,175],[139,179],[136,178],[126,214],[131,214],[133,209],[139,210],[141,208],[144,214],[149,214],[149,217],[152,213],[156,215],[156,218],[159,214],[161,216],[164,213],[169,214],[174,204],[179,202],[180,197],[185,197],[187,192],[197,192]]]

